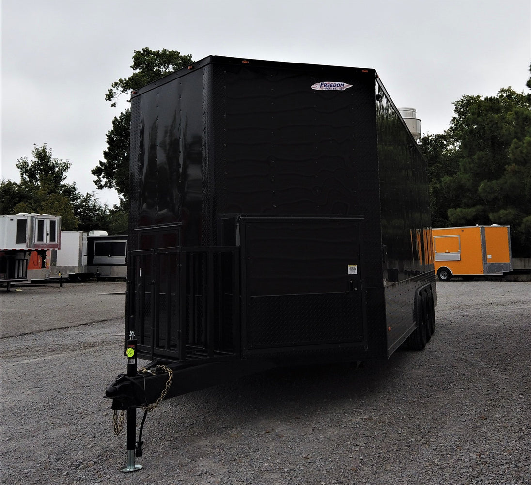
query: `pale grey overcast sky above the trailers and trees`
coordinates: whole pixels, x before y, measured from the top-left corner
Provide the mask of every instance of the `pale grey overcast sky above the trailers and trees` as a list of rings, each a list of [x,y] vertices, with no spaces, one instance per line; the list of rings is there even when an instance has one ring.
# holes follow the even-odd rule
[[[127,105],[105,93],[134,50],[371,67],[423,134],[447,129],[452,102],[527,91],[530,0],[2,0],[2,172],[46,143],[68,181],[102,203],[90,170]]]

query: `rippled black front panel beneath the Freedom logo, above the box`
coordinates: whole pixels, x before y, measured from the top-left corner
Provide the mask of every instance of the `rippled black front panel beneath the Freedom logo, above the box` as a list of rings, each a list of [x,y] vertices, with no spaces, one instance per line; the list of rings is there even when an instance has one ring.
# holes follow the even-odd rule
[[[286,69],[232,66],[218,74],[226,84],[227,147],[220,211],[357,213],[365,127],[354,113],[371,112],[372,79],[336,71],[327,74],[354,86],[314,90],[315,73]]]

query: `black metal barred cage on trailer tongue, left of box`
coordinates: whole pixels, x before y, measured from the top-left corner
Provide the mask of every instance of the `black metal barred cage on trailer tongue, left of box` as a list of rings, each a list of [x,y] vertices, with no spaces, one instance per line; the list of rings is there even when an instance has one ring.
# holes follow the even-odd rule
[[[183,362],[238,351],[236,252],[182,246],[131,251],[128,318],[140,356]]]

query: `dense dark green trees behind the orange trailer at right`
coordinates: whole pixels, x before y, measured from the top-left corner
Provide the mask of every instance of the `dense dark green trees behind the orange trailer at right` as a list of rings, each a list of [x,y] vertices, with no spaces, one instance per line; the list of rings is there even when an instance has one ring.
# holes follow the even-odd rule
[[[434,227],[507,224],[513,254],[531,256],[531,95],[467,95],[454,113],[446,132],[421,140]]]

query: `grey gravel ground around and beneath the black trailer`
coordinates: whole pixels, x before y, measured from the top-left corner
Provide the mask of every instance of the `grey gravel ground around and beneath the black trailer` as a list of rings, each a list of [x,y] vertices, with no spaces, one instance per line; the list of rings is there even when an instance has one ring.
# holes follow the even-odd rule
[[[92,323],[74,307],[72,326],[21,324],[25,335],[0,341],[2,483],[531,483],[531,283],[438,283],[423,352],[275,370],[163,402],[144,427],[144,468],[128,474],[125,431],[114,435],[103,398],[126,367],[124,285],[99,285],[60,295],[81,287],[80,308],[119,301],[121,315]],[[0,293],[3,326],[25,301],[14,295]],[[31,307],[35,330],[53,326]]]

